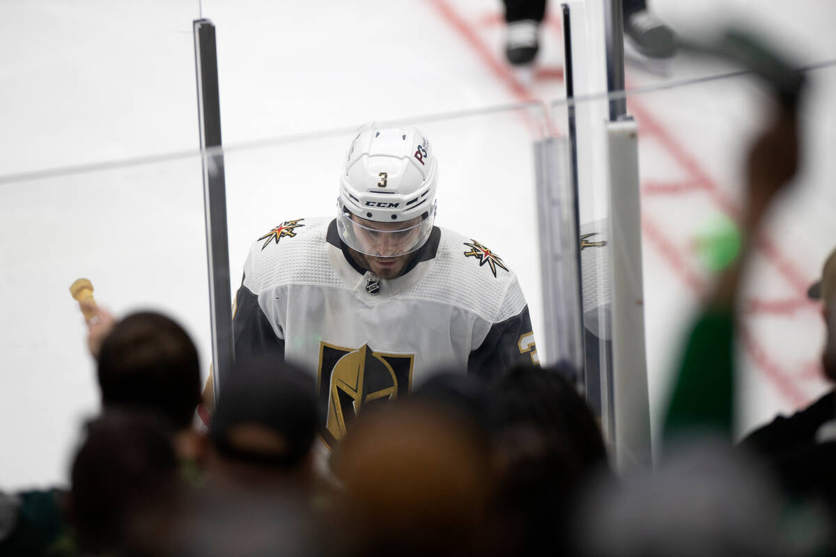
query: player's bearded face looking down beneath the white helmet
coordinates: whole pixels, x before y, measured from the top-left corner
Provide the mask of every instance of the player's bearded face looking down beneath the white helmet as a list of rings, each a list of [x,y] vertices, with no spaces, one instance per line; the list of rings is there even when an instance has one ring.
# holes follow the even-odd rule
[[[354,223],[354,235],[366,252],[355,252],[354,259],[380,278],[400,276],[411,257],[410,253],[404,254],[404,251],[414,246],[417,237],[421,235],[421,227],[417,226],[421,223],[421,217],[405,222],[376,222],[352,215],[351,220]]]

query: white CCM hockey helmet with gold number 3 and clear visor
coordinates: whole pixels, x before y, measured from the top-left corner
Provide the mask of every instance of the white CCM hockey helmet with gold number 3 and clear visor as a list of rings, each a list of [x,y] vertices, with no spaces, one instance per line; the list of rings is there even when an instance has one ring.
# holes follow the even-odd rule
[[[437,183],[435,154],[418,129],[364,124],[351,142],[339,180],[340,237],[370,256],[417,250],[435,220]],[[390,241],[370,246],[370,236]]]

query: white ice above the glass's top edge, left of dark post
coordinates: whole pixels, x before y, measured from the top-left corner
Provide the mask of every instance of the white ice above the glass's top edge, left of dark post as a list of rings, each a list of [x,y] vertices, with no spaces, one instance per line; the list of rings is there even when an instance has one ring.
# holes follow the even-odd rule
[[[196,149],[198,2],[0,3],[0,173]]]

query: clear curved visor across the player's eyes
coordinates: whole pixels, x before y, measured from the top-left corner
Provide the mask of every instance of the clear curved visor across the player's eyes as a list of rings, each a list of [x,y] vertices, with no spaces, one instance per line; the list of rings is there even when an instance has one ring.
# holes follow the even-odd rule
[[[337,204],[337,230],[348,246],[367,256],[397,257],[417,250],[430,237],[436,204],[426,215],[405,222],[361,219]]]

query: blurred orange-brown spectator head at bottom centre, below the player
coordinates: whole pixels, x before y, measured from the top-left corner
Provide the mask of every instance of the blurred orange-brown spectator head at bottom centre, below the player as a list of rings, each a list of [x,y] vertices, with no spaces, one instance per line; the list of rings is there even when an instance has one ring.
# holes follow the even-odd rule
[[[361,413],[334,449],[348,555],[477,551],[491,487],[487,446],[460,413],[419,400]]]

